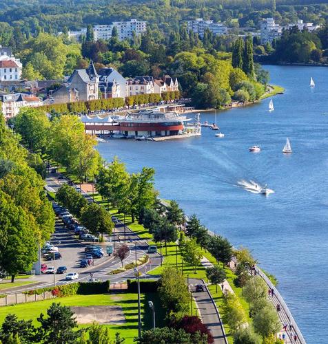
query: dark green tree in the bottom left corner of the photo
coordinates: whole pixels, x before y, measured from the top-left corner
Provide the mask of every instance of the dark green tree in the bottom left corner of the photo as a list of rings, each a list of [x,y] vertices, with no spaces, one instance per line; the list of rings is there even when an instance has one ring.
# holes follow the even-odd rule
[[[16,314],[8,314],[0,329],[0,341],[8,343],[9,337],[19,335],[22,344],[34,343],[36,329],[32,325],[32,320],[19,320]]]

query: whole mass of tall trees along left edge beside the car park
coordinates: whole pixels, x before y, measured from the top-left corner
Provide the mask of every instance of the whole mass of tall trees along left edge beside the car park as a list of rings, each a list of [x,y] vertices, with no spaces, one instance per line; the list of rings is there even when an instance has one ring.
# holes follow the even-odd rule
[[[0,114],[0,274],[11,275],[12,282],[32,269],[39,244],[54,232],[44,174],[41,156],[21,147]]]

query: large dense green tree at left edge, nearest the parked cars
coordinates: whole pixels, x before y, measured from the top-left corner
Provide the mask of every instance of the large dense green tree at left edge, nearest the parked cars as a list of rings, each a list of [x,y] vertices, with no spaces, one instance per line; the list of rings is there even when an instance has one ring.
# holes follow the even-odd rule
[[[37,261],[38,228],[34,217],[0,191],[0,267],[14,277]]]

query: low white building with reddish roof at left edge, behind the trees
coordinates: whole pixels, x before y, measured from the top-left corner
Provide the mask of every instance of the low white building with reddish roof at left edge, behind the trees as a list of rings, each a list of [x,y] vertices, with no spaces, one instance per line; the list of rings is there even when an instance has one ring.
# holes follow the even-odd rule
[[[22,107],[39,107],[43,105],[42,99],[34,94],[0,94],[1,111],[6,119],[12,118],[19,113]]]

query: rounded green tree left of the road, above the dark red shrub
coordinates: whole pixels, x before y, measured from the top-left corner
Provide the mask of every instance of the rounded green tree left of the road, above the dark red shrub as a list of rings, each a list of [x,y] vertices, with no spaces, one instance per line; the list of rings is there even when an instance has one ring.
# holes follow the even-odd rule
[[[167,266],[163,269],[159,283],[159,297],[167,314],[171,312],[188,312],[189,292],[181,272]]]

